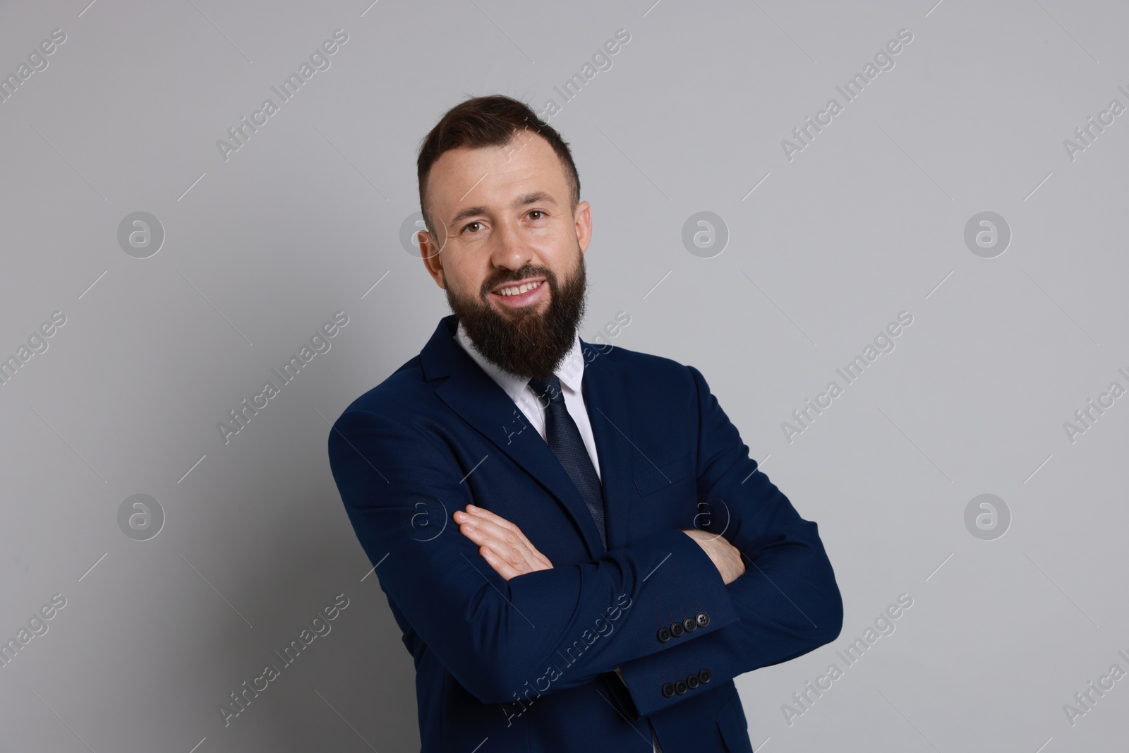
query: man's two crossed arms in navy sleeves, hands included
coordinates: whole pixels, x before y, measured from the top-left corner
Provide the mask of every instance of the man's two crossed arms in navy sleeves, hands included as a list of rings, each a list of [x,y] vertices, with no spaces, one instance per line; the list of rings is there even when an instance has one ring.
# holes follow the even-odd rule
[[[727,682],[834,639],[842,602],[815,523],[758,470],[704,379],[690,374],[698,499],[732,510],[725,537],[671,529],[567,566],[553,567],[511,524],[474,508],[450,446],[415,417],[397,406],[342,414],[329,440],[333,475],[359,542],[383,562],[380,586],[414,633],[411,645],[425,645],[484,703],[511,702],[527,681],[555,692],[619,669],[636,712],[647,716],[685,698],[660,692],[675,674],[709,668]],[[427,531],[440,534],[414,535],[405,522],[435,500],[465,508],[455,514],[458,533],[443,533],[436,519]],[[630,607],[609,618],[618,619],[614,634],[595,640],[618,599]],[[693,603],[708,627],[656,638],[660,621]],[[542,688],[546,664],[566,655],[563,676]]]

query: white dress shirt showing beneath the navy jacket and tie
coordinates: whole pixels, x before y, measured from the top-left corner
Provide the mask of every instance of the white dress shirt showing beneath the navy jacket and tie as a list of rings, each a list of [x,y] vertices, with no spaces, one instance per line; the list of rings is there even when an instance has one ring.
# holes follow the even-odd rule
[[[530,387],[530,380],[525,377],[510,374],[493,361],[487,360],[482,353],[474,349],[474,343],[471,342],[470,335],[463,330],[462,323],[455,330],[455,340],[474,359],[474,362],[482,367],[482,370],[490,375],[490,378],[509,395],[514,404],[525,414],[530,424],[537,430],[542,439],[545,439],[545,409],[542,408],[536,393]],[[580,351],[579,334],[572,341],[572,349],[568,351],[564,360],[561,361],[560,367],[553,374],[561,380],[561,392],[564,394],[564,408],[568,409],[568,414],[576,422],[576,428],[580,430],[584,447],[588,450],[589,457],[592,457],[596,475],[599,476],[599,457],[596,456],[596,439],[592,436],[592,421],[588,419],[588,409],[584,404],[584,393],[580,392],[580,382],[584,379],[584,354]],[[655,753],[663,753],[654,727],[650,729],[650,742]]]

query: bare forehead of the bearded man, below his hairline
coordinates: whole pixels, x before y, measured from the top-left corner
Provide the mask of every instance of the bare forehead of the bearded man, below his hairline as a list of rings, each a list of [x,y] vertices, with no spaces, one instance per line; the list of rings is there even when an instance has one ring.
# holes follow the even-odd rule
[[[522,131],[501,147],[458,147],[431,166],[427,191],[435,211],[449,216],[471,204],[507,203],[515,195],[544,191],[564,204],[564,164],[543,137]]]

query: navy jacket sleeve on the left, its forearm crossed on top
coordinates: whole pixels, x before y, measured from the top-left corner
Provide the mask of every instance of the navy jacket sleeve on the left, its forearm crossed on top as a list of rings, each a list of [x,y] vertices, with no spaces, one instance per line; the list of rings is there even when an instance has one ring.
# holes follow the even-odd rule
[[[329,438],[330,465],[380,587],[469,692],[511,702],[590,682],[669,650],[654,615],[697,599],[710,624],[737,620],[729,590],[686,534],[668,531],[592,562],[497,575],[450,516],[473,499],[444,435],[406,411],[350,410]],[[555,502],[551,502],[555,504]],[[418,655],[417,655],[418,658]]]

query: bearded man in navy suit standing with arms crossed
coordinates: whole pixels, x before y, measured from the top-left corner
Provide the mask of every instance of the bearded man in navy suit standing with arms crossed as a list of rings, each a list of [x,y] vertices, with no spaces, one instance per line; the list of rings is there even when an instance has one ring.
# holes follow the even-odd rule
[[[733,678],[842,624],[816,525],[697,369],[579,339],[592,213],[555,130],[469,99],[418,170],[454,314],[329,452],[422,750],[751,751]]]

